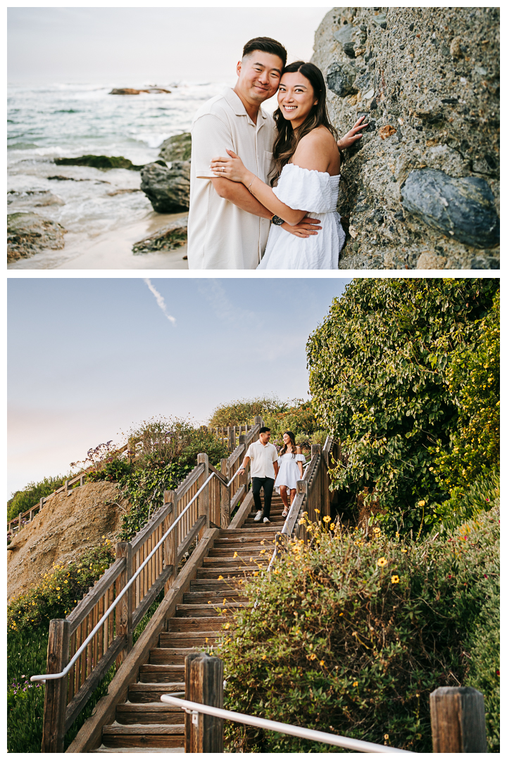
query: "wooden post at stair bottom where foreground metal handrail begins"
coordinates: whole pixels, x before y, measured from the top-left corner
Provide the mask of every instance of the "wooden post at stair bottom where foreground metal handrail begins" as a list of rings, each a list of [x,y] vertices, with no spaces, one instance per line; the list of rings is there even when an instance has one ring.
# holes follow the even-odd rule
[[[223,662],[208,654],[185,658],[185,699],[223,708]],[[185,752],[223,752],[223,720],[185,714]]]

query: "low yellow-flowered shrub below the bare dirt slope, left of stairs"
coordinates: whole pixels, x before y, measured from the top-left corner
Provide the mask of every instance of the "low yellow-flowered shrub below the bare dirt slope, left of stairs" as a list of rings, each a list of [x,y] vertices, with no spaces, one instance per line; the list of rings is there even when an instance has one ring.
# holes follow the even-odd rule
[[[52,572],[46,573],[39,584],[8,604],[9,632],[29,632],[40,625],[49,625],[52,619],[64,618],[114,559],[114,549],[106,539],[68,565],[53,565]]]

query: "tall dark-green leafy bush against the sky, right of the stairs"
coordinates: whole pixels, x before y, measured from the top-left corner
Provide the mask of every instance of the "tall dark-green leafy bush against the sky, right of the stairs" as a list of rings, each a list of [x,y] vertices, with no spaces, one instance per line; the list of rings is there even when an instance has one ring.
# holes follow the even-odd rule
[[[431,528],[448,485],[433,448],[458,431],[450,356],[474,349],[497,279],[356,279],[309,337],[312,404],[341,442],[332,484],[392,533]],[[430,469],[431,468],[431,469]]]

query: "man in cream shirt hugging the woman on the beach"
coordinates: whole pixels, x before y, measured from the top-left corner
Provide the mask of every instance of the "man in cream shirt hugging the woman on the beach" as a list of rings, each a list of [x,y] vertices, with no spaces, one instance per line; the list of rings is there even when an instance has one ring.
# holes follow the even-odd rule
[[[214,176],[210,161],[227,148],[263,182],[271,180],[275,127],[261,109],[278,89],[287,51],[270,37],[246,43],[236,87],[198,110],[192,122],[190,165],[189,269],[255,269],[264,254],[271,223],[268,211],[241,182]],[[297,236],[318,228],[318,220],[282,225]]]

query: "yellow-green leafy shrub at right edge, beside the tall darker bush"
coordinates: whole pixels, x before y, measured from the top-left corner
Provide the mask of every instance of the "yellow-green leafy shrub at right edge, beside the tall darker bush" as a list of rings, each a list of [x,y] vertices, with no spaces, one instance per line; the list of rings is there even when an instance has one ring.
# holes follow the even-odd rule
[[[477,477],[500,464],[500,294],[483,319],[471,347],[459,347],[446,369],[458,407],[448,449],[436,448],[435,469],[448,487],[464,492]]]

